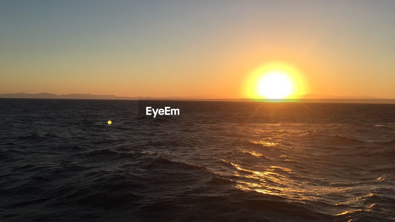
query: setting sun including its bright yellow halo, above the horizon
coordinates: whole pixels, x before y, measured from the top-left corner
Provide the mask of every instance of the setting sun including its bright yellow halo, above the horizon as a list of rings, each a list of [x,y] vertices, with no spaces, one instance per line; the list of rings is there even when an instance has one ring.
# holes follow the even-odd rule
[[[244,94],[254,99],[297,98],[305,93],[305,82],[297,68],[283,62],[271,62],[252,71]]]

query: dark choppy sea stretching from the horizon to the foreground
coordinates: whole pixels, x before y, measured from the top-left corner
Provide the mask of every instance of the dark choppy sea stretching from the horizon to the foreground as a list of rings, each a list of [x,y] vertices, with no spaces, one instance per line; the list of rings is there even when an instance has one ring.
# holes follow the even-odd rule
[[[395,221],[394,105],[209,124],[202,110],[236,103],[191,104],[194,121],[139,117],[137,101],[0,99],[0,220]],[[254,106],[237,104],[220,118]]]

